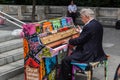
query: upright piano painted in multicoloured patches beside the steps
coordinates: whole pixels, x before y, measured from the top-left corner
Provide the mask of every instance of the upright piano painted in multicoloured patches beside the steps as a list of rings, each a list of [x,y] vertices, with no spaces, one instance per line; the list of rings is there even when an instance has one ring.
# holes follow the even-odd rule
[[[79,36],[71,20],[52,19],[23,25],[25,80],[55,80],[55,66],[60,64],[68,49],[64,41]]]

